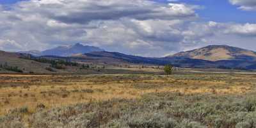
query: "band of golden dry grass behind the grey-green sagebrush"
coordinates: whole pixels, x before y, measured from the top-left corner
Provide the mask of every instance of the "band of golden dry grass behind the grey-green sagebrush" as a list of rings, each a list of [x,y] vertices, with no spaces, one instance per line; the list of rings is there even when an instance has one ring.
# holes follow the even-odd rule
[[[173,76],[97,75],[97,76],[0,76],[0,115],[11,109],[38,104],[47,109],[81,102],[135,99],[152,92],[248,93],[255,91],[256,78],[191,74]]]

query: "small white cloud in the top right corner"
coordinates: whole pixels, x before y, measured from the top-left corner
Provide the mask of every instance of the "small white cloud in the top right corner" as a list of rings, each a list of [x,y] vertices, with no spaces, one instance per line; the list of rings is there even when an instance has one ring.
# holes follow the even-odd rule
[[[256,1],[255,0],[229,0],[231,4],[239,6],[241,10],[256,10]]]

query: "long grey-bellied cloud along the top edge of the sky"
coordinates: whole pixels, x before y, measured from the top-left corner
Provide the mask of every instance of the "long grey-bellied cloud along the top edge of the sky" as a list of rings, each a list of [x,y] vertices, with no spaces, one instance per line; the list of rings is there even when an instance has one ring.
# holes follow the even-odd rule
[[[47,15],[51,19],[68,24],[86,24],[92,20],[118,20],[122,18],[172,20],[195,17],[192,6],[184,4],[163,5],[145,0],[43,0],[36,2],[36,5],[36,9],[40,12],[48,12]],[[31,7],[31,4],[24,4],[23,7]],[[51,10],[51,7],[56,7],[58,10]]]

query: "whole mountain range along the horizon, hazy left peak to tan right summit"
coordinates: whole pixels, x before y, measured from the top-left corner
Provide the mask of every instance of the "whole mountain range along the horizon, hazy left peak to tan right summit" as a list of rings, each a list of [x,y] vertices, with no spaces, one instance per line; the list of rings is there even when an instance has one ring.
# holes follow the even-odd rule
[[[82,44],[60,46],[42,52],[0,51],[1,65],[8,63],[8,65],[13,67],[22,68],[25,72],[48,72],[49,70],[45,70],[45,67],[49,67],[51,63],[42,63],[42,59],[95,63],[100,65],[172,64],[175,67],[183,68],[236,68],[256,70],[256,52],[228,45],[209,45],[200,49],[179,52],[163,58],[148,58],[120,52],[108,52],[99,47]],[[67,69],[71,70],[72,68]],[[54,70],[62,72],[62,70]],[[73,71],[71,70],[70,72]]]

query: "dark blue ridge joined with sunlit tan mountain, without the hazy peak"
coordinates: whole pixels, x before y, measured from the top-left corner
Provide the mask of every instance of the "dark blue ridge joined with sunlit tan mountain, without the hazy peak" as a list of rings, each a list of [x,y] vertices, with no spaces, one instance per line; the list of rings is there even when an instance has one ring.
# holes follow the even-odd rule
[[[228,45],[209,45],[192,51],[179,52],[164,58],[146,58],[120,52],[96,51],[72,56],[75,61],[97,63],[140,63],[152,65],[172,64],[184,68],[237,68],[256,69],[256,54],[253,51]]]

